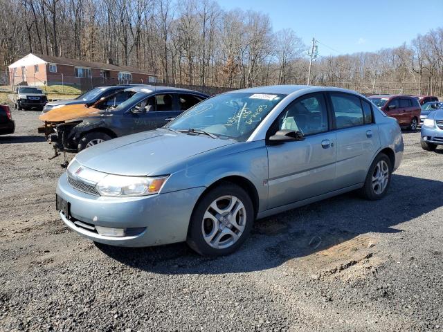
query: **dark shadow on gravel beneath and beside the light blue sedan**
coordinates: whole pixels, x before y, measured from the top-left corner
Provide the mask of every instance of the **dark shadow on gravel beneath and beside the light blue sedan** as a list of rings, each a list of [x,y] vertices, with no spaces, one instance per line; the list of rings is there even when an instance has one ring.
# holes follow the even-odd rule
[[[256,221],[251,237],[242,248],[226,257],[200,257],[185,243],[152,248],[97,246],[112,259],[154,273],[264,270],[342,246],[368,232],[399,233],[401,230],[396,225],[443,205],[441,190],[440,181],[393,174],[390,190],[380,201],[365,201],[351,192]]]

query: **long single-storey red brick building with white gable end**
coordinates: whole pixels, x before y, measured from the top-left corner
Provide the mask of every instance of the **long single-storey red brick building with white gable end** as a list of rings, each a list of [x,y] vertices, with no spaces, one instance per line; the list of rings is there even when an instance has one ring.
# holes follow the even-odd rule
[[[156,75],[148,71],[118,66],[111,59],[102,64],[29,53],[8,68],[12,86],[64,84],[87,90],[99,85],[154,84],[157,81]]]

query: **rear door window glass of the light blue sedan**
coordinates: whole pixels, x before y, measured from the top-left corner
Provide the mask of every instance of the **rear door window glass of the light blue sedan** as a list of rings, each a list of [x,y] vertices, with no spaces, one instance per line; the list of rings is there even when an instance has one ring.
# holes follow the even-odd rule
[[[344,93],[331,93],[337,129],[364,124],[360,98]]]

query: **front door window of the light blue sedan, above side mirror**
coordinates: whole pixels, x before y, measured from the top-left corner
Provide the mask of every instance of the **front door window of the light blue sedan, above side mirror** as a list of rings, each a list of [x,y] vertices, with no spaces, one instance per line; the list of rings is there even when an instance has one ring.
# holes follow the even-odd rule
[[[309,95],[290,104],[278,117],[278,130],[301,131],[303,135],[327,131],[327,109],[322,94]]]

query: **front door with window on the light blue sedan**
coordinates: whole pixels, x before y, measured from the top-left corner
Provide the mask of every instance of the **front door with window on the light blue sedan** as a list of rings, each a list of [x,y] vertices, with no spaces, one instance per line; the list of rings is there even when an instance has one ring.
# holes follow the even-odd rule
[[[269,205],[277,208],[334,190],[336,133],[329,131],[325,95],[314,93],[295,100],[273,124],[301,131],[305,140],[268,144]]]

